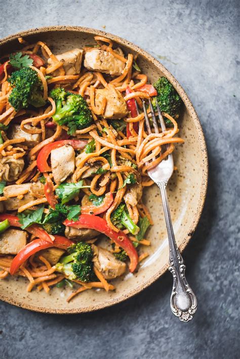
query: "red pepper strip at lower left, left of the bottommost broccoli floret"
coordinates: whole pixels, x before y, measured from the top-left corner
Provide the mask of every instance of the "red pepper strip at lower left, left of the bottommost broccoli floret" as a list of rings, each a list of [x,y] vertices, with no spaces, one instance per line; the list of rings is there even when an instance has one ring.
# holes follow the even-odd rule
[[[67,249],[74,242],[62,236],[55,236],[55,241],[50,243],[45,241],[44,239],[37,238],[32,242],[28,243],[25,247],[23,247],[18,254],[13,258],[10,274],[13,276],[19,267],[34,253],[41,251],[42,249],[57,247],[62,249]]]

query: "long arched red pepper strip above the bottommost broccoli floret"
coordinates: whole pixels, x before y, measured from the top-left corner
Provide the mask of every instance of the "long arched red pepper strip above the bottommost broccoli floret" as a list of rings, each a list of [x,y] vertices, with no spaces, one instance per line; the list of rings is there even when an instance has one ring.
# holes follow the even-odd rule
[[[81,214],[76,222],[66,219],[63,224],[73,228],[88,228],[105,234],[117,246],[122,247],[126,251],[130,258],[129,270],[130,272],[135,271],[138,264],[138,253],[136,248],[124,232],[119,231],[117,233],[108,227],[107,221],[104,218],[92,214]]]

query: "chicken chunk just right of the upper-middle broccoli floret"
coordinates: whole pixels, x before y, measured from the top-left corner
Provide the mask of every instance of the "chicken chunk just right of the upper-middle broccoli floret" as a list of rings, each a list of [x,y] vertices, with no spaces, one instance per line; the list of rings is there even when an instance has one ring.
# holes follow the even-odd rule
[[[120,119],[128,114],[126,102],[121,92],[113,85],[108,84],[105,88],[96,89],[95,104],[97,107],[101,106],[104,99],[107,99],[107,104],[103,114],[104,118]]]

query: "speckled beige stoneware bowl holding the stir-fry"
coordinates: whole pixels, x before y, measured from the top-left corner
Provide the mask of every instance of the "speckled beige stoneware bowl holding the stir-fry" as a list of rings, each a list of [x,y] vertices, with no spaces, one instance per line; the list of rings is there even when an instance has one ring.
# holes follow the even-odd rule
[[[104,31],[85,27],[51,26],[10,35],[0,40],[0,56],[21,49],[17,40],[19,36],[23,36],[28,42],[46,41],[53,53],[58,54],[93,43],[95,35],[114,40],[125,53],[138,54],[140,68],[147,74],[149,80],[153,82],[159,76],[166,76],[184,102],[179,126],[180,136],[185,143],[177,145],[174,151],[177,170],[168,186],[174,231],[177,244],[182,251],[189,242],[202,213],[208,181],[208,157],[197,114],[174,76],[161,63],[133,43]],[[144,201],[155,223],[147,235],[147,239],[151,241],[151,247],[147,248],[149,257],[141,263],[136,274],[127,274],[124,278],[114,280],[113,284],[116,286],[114,292],[107,294],[103,290],[88,290],[67,303],[66,298],[70,289],[54,288],[49,294],[44,291],[38,293],[36,290],[27,293],[26,281],[23,278],[9,278],[0,281],[0,299],[35,311],[79,313],[121,302],[148,287],[167,270],[169,254],[162,202],[156,186],[145,191]]]

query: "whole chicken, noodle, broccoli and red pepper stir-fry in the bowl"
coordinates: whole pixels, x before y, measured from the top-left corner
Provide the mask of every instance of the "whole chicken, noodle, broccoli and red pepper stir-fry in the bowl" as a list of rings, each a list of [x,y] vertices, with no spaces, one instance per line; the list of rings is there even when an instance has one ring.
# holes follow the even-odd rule
[[[147,83],[136,56],[95,41],[54,55],[19,38],[0,59],[0,278],[25,277],[28,292],[70,286],[67,301],[138,270],[153,225],[147,170],[183,143],[168,79]],[[149,99],[165,132],[145,128]]]

